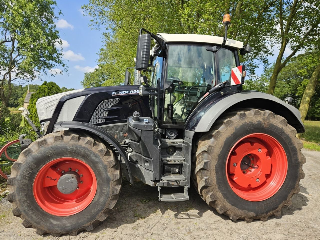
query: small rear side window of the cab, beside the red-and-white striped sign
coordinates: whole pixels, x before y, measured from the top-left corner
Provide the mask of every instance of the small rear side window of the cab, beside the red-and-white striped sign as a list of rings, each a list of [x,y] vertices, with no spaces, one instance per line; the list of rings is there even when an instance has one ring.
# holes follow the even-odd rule
[[[226,48],[220,48],[217,52],[217,58],[219,73],[218,83],[231,81],[231,68],[236,67],[234,52]]]

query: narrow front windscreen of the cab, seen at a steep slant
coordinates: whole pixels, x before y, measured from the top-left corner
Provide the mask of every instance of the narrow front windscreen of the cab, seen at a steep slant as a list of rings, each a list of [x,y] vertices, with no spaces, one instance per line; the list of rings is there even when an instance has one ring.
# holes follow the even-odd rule
[[[163,64],[163,58],[160,58],[160,57],[156,57],[152,61],[151,75],[150,75],[152,87],[157,87],[157,80],[161,79],[162,64]],[[150,106],[151,106],[153,118],[156,118],[158,116],[158,105],[157,105],[156,96],[150,96]]]

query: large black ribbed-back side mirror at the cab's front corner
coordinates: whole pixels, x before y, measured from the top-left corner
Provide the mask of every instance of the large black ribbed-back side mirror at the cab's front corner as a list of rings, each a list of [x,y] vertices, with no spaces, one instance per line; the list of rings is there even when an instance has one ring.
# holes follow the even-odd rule
[[[141,34],[138,37],[136,69],[138,71],[145,71],[148,69],[150,58],[151,35]]]

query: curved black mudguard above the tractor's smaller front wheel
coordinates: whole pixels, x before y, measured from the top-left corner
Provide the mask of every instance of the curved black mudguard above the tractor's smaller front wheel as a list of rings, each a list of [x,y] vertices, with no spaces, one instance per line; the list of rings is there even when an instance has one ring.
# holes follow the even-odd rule
[[[54,127],[57,129],[59,129],[59,128],[75,128],[75,129],[79,129],[79,130],[84,130],[87,132],[91,132],[91,133],[97,135],[98,137],[102,138],[103,140],[111,143],[117,149],[117,151],[119,151],[120,155],[123,157],[123,159],[125,161],[125,165],[127,166],[127,169],[128,169],[130,183],[133,184],[133,178],[132,178],[132,174],[131,174],[130,167],[129,167],[129,159],[128,159],[126,153],[124,152],[124,149],[121,147],[120,143],[112,135],[110,135],[108,132],[102,130],[100,127],[97,127],[92,124],[84,123],[84,122],[58,122],[58,123],[54,124]]]

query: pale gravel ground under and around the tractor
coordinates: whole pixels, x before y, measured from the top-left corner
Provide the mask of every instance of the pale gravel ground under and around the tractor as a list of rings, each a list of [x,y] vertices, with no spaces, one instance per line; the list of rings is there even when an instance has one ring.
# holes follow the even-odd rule
[[[210,209],[193,188],[189,189],[189,201],[158,202],[156,188],[124,182],[119,200],[104,222],[91,232],[60,239],[320,239],[320,152],[303,149],[303,154],[307,157],[306,177],[300,181],[300,193],[292,197],[292,205],[284,207],[280,217],[266,222],[229,220]],[[0,239],[58,239],[24,228],[11,210],[6,199],[0,201]]]

